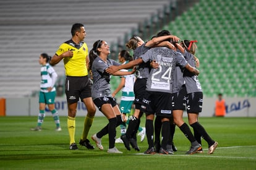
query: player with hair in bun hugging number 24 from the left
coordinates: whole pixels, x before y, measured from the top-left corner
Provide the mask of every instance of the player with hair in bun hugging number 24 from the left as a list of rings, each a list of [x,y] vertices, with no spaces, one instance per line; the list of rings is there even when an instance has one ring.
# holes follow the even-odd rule
[[[144,42],[139,36],[133,36],[132,38],[130,38],[126,46],[127,48],[134,50],[134,59],[138,59],[142,54],[145,54],[150,48],[155,46],[168,46],[169,48],[175,48],[174,45],[172,45],[168,41],[165,41],[166,39],[169,39],[169,38],[173,38],[174,41],[179,40],[177,36],[168,35],[168,36],[152,38],[151,40]],[[127,64],[124,64],[118,67],[112,66],[108,69],[108,72],[112,73],[112,72],[115,72],[116,70],[128,69],[130,67],[132,66],[131,65],[129,66]],[[148,75],[150,73],[150,69],[151,69],[150,62],[145,62],[145,63],[141,62],[139,66],[137,66],[137,69],[135,72],[135,75],[136,75],[136,81],[134,83],[135,112],[129,121],[126,134],[121,136],[121,139],[123,140],[127,150],[130,150],[130,144],[132,145],[133,148],[135,148],[135,150],[139,150],[139,147],[137,146],[137,140],[133,140],[133,139],[136,136],[137,130],[140,125],[140,117],[143,114],[143,112],[141,111],[142,100],[143,98],[147,98],[147,91],[145,89],[146,89],[146,83],[147,83]]]

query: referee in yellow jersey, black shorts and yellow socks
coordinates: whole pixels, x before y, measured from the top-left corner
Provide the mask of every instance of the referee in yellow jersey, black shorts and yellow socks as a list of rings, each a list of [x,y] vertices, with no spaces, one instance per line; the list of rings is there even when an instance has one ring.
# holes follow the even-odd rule
[[[62,59],[64,61],[66,70],[65,91],[68,106],[67,128],[70,138],[69,149],[78,149],[75,143],[75,114],[77,113],[79,98],[85,104],[88,111],[79,143],[88,149],[94,149],[87,139],[96,109],[92,100],[92,84],[88,78],[88,48],[87,44],[83,42],[86,36],[83,24],[75,23],[72,25],[71,34],[72,38],[59,46],[50,64],[58,64]]]

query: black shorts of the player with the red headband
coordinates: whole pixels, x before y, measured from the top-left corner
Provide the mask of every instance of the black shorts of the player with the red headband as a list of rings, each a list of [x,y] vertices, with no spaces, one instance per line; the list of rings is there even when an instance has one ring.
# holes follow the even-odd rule
[[[187,113],[200,113],[203,108],[203,93],[195,92],[187,94]]]

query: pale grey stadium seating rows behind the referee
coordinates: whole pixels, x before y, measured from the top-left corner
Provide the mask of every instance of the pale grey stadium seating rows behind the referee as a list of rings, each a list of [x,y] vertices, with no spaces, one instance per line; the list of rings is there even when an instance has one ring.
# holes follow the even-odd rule
[[[39,55],[53,56],[70,39],[73,23],[85,24],[89,50],[99,39],[113,49],[125,33],[166,4],[168,0],[0,1],[0,97],[29,96],[39,90]],[[54,69],[64,75],[62,62]]]

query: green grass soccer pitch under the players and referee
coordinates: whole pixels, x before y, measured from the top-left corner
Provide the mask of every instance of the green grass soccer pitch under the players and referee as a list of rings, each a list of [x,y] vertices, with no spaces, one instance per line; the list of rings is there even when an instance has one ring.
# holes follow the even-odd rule
[[[178,127],[174,134],[178,151],[174,155],[143,155],[147,138],[138,143],[140,152],[127,151],[122,143],[117,143],[123,154],[111,155],[106,153],[108,136],[102,140],[104,151],[80,146],[79,150],[69,150],[67,118],[60,118],[61,132],[54,131],[53,118],[49,115],[41,132],[32,132],[30,128],[35,127],[36,117],[0,117],[0,169],[256,169],[256,117],[200,118],[208,134],[219,143],[213,155],[207,155],[204,140],[204,153],[185,155],[190,143]],[[95,117],[89,135],[107,122],[105,117]],[[78,143],[83,117],[76,118],[76,125]],[[141,125],[145,126],[145,117]],[[119,134],[117,127],[117,137]]]

